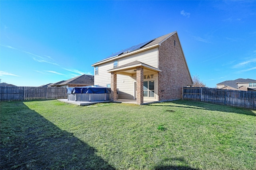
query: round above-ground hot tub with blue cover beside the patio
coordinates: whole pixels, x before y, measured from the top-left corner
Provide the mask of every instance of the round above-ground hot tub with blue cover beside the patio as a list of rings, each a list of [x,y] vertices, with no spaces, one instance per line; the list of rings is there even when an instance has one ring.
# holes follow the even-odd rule
[[[108,87],[91,85],[85,87],[67,87],[69,101],[110,101],[111,90]]]

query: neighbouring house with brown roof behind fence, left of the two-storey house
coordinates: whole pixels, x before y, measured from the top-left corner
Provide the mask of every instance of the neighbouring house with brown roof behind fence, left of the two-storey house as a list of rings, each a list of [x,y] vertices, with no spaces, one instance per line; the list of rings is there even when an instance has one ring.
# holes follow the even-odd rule
[[[49,85],[50,87],[83,87],[94,85],[94,76],[93,75],[80,75],[66,81],[59,81]]]

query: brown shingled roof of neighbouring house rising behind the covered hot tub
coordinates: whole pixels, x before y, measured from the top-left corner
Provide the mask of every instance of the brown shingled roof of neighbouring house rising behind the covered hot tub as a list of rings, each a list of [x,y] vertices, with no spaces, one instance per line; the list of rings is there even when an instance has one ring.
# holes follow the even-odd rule
[[[72,79],[68,79],[59,85],[94,85],[94,76],[93,75],[80,75]]]

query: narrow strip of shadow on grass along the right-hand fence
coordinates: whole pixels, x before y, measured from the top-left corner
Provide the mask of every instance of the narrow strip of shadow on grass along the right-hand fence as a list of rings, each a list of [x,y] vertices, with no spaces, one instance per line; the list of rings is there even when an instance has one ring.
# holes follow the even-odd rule
[[[221,112],[227,112],[227,113],[238,113],[243,115],[256,116],[256,114],[252,112],[252,110],[241,108],[241,107],[232,107],[232,106],[218,105],[218,104],[201,102],[201,101],[188,101],[188,100],[176,100],[176,101],[170,101],[170,103],[175,103],[178,105],[186,105],[186,106],[169,105],[170,107],[202,109],[202,110],[221,111]],[[157,105],[157,106],[168,106],[168,105]]]

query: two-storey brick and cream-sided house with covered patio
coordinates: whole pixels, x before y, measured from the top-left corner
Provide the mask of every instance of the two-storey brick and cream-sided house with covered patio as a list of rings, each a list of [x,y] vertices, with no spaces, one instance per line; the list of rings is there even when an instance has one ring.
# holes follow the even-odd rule
[[[111,87],[111,100],[168,101],[180,99],[193,84],[178,33],[132,46],[94,64],[94,85]]]

